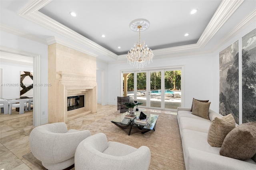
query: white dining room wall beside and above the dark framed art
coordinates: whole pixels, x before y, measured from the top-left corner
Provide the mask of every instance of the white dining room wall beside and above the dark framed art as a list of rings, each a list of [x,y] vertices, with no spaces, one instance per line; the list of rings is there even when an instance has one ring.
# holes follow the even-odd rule
[[[33,65],[1,61],[0,68],[2,68],[3,76],[2,98],[18,99],[20,97],[20,71],[30,72],[33,70]]]

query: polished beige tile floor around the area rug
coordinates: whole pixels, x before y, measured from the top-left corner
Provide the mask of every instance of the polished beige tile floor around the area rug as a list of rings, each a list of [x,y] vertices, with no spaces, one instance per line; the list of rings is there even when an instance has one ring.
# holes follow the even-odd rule
[[[171,111],[144,109],[145,111],[176,114]],[[114,105],[98,105],[98,111],[67,123],[68,129],[80,130],[82,125],[88,125],[102,119],[106,115],[117,111]],[[29,134],[33,126],[32,112],[19,115],[13,111],[12,115],[0,114],[0,170],[38,170],[38,168],[22,156],[30,152]],[[74,169],[74,168],[73,168]]]

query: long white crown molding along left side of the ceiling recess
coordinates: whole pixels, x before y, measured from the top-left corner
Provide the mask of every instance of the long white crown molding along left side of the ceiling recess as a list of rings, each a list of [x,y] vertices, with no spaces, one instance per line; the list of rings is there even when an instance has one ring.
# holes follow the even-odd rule
[[[97,43],[89,40],[88,38],[85,38],[84,36],[78,34],[77,32],[60,24],[59,22],[56,22],[52,18],[38,11],[40,8],[44,7],[49,2],[51,1],[48,1],[48,0],[33,1],[32,3],[25,6],[18,13],[18,15],[28,20],[31,20],[32,22],[40,24],[41,26],[44,26],[54,32],[57,32],[58,34],[61,34],[62,36],[65,36],[71,40],[74,40],[75,42],[78,42],[86,47],[89,47],[113,59],[117,59],[118,55],[116,55],[115,53],[107,50],[106,48],[98,45]]]

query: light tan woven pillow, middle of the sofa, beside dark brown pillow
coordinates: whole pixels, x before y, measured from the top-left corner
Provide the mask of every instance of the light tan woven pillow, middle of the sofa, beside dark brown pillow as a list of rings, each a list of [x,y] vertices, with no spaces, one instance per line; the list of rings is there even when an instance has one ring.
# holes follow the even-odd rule
[[[221,147],[227,134],[236,127],[236,121],[232,114],[224,117],[215,117],[208,130],[207,141],[211,146]]]

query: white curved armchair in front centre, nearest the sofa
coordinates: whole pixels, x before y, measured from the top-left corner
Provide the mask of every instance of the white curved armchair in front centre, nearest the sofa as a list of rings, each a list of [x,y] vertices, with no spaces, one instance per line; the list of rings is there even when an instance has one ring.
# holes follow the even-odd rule
[[[84,139],[76,148],[76,170],[148,170],[150,149],[107,140],[104,133]]]

